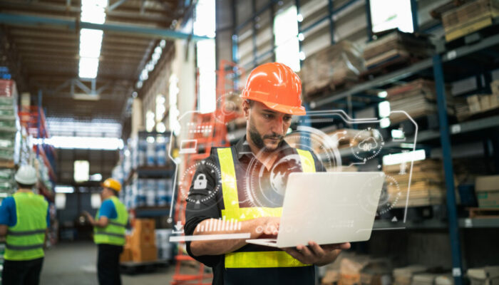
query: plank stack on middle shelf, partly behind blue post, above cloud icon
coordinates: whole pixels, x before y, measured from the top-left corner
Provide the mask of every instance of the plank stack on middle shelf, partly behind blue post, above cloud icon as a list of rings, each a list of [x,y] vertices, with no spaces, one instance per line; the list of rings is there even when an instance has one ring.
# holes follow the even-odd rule
[[[403,110],[412,118],[419,118],[437,112],[435,83],[425,79],[416,79],[401,86],[395,86],[386,90],[386,99],[390,102],[391,110]],[[446,92],[448,113],[453,114],[453,99],[451,92]],[[402,113],[392,113],[391,123],[407,120]]]

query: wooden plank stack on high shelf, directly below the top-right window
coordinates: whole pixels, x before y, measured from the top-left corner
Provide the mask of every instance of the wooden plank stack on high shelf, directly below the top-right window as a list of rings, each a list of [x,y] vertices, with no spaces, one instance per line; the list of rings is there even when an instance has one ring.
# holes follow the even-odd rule
[[[371,69],[391,61],[428,57],[430,52],[427,38],[395,30],[369,42],[364,49],[364,60],[366,68]]]

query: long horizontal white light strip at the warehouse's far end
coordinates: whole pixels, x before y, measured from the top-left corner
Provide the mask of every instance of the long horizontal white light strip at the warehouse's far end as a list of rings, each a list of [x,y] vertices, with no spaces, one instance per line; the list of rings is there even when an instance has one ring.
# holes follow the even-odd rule
[[[35,144],[41,140],[34,139]],[[53,136],[45,139],[45,143],[56,148],[83,149],[83,150],[121,150],[123,140],[119,138],[93,138],[93,137],[58,137]]]

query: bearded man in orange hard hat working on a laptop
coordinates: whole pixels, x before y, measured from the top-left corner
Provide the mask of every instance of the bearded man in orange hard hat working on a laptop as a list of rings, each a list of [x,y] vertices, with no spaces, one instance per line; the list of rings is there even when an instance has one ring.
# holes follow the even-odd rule
[[[265,63],[249,74],[241,95],[245,138],[232,147],[212,148],[197,168],[187,199],[186,235],[249,232],[249,239],[277,235],[284,195],[276,187],[275,173],[326,171],[313,152],[284,141],[292,115],[306,113],[301,93],[299,77],[282,63]],[[220,167],[220,175],[210,165]],[[219,219],[242,222],[237,229],[209,227],[220,224]],[[315,284],[314,265],[329,264],[349,247],[349,243],[309,242],[283,251],[247,244],[245,239],[187,242],[190,256],[212,266],[213,284],[225,285]]]

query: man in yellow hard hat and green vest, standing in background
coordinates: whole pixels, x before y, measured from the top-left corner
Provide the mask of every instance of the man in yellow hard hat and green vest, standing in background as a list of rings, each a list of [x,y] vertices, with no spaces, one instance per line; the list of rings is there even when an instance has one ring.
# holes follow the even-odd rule
[[[128,212],[118,199],[121,184],[113,178],[102,183],[101,208],[94,219],[85,212],[93,225],[93,241],[98,245],[97,277],[99,284],[121,284],[120,254],[125,244]]]

